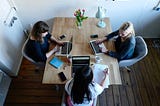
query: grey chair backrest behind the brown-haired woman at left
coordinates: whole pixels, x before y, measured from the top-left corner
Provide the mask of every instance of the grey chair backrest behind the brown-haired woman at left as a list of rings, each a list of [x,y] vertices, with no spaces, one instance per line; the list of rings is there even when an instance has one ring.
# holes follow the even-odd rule
[[[27,39],[27,40],[25,41],[25,43],[23,44],[23,47],[22,47],[22,55],[23,55],[26,59],[28,59],[30,62],[32,62],[33,64],[35,64],[36,66],[43,67],[43,66],[45,65],[45,63],[43,63],[43,62],[36,62],[36,61],[34,61],[32,58],[30,58],[30,57],[27,55],[27,53],[26,53],[26,44],[27,44],[28,40],[29,40],[29,39]]]

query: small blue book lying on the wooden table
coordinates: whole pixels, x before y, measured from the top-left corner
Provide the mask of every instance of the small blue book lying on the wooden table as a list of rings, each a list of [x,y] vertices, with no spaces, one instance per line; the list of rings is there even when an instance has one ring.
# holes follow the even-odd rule
[[[58,57],[53,57],[49,63],[54,66],[55,68],[59,69],[63,65],[63,61],[61,61]]]

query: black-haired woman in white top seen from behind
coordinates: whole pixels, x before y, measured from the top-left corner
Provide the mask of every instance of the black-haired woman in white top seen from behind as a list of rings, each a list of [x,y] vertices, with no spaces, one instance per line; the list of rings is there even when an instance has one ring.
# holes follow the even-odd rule
[[[90,67],[77,70],[74,78],[65,85],[65,90],[69,95],[70,106],[92,106],[93,99],[102,93],[104,81],[108,70],[104,71],[104,79],[100,84],[93,81],[93,72]]]

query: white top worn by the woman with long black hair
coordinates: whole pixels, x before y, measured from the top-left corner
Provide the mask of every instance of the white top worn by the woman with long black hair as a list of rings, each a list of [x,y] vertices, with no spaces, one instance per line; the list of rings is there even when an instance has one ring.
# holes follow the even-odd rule
[[[93,84],[93,85],[92,85]],[[92,100],[88,101],[87,99],[84,98],[84,101],[82,104],[73,104],[73,102],[71,101],[71,103],[73,104],[73,106],[92,106],[93,104],[93,99],[97,98],[97,96],[99,94],[101,94],[104,90],[104,88],[102,86],[100,86],[98,83],[96,82],[92,82],[92,84],[89,84],[89,89],[92,93]],[[67,81],[66,85],[65,85],[65,90],[68,93],[68,95],[71,95],[71,89],[73,86],[73,79]]]

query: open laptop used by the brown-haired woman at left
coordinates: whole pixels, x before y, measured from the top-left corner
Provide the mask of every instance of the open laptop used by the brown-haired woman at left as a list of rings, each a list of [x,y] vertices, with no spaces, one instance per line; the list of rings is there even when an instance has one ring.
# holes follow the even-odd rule
[[[64,41],[63,46],[60,46],[59,50],[55,53],[57,56],[67,56],[72,50],[72,40],[71,37],[70,41]]]

